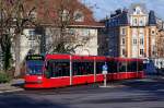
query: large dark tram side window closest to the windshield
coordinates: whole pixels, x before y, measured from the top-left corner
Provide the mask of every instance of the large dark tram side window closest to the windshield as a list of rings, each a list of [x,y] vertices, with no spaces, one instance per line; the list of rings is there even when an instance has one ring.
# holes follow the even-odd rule
[[[48,64],[48,72],[50,77],[69,76],[70,63],[67,61],[51,61]]]

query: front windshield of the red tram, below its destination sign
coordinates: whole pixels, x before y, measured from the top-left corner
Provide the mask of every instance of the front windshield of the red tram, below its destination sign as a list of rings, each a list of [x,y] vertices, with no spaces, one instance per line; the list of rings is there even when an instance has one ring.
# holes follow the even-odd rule
[[[42,75],[43,74],[43,60],[28,60],[26,61],[26,73],[30,75]]]

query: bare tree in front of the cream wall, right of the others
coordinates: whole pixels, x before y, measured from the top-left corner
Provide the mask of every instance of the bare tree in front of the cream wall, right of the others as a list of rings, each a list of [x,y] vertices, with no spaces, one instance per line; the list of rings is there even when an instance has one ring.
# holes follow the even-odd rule
[[[46,10],[46,16],[51,22],[49,28],[50,43],[47,45],[48,52],[74,53],[78,47],[84,46],[92,36],[82,37],[75,28],[75,19],[83,19],[84,5],[78,5],[77,0],[55,0],[56,4]],[[49,1],[48,1],[49,2]],[[79,12],[80,14],[75,14]]]

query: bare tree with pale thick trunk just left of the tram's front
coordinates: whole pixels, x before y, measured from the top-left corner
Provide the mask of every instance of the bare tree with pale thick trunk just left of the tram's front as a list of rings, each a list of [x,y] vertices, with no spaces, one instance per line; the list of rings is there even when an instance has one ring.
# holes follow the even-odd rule
[[[3,16],[1,22],[1,34],[10,34],[10,38],[13,40],[12,44],[15,52],[14,76],[20,75],[21,36],[26,27],[34,26],[34,21],[32,19],[32,12],[34,10],[35,7],[26,8],[26,0],[1,0],[1,11],[3,12],[1,15]]]

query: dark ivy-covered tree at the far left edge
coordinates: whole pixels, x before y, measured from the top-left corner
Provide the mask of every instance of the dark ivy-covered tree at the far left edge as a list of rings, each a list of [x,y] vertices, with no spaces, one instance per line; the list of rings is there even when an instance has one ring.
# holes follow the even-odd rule
[[[10,34],[10,11],[7,11],[7,3],[3,0],[0,0],[0,47],[1,47],[1,63],[3,70],[7,72],[11,67],[11,34]]]

